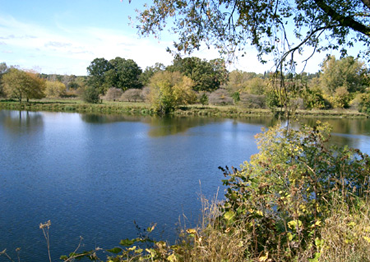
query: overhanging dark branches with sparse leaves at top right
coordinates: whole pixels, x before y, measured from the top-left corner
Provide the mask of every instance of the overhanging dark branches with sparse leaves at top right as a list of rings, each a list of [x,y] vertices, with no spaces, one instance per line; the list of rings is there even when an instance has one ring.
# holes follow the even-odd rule
[[[169,30],[177,37],[174,52],[190,54],[201,45],[214,47],[226,58],[243,56],[250,45],[261,62],[274,60],[275,89],[288,109],[287,72],[295,73],[297,54],[304,64],[315,52],[339,50],[342,56],[355,44],[367,57],[370,44],[368,0],[158,0],[137,15],[141,35]],[[171,26],[167,26],[171,24]]]

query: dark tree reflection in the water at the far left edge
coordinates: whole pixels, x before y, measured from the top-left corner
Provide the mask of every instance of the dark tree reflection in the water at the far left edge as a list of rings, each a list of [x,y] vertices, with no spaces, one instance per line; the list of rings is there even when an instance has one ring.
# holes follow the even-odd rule
[[[36,132],[43,128],[44,121],[41,113],[29,111],[0,111],[0,122],[10,131]]]

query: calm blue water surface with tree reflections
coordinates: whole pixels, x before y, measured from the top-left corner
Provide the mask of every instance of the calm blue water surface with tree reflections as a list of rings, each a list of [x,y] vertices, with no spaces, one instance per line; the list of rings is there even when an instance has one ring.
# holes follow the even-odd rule
[[[370,152],[368,120],[329,122],[335,143]],[[174,241],[179,218],[197,223],[200,193],[222,195],[218,166],[248,160],[254,135],[275,123],[0,111],[0,251],[47,261],[47,220],[54,261],[80,236],[80,251],[137,237],[134,220]]]

